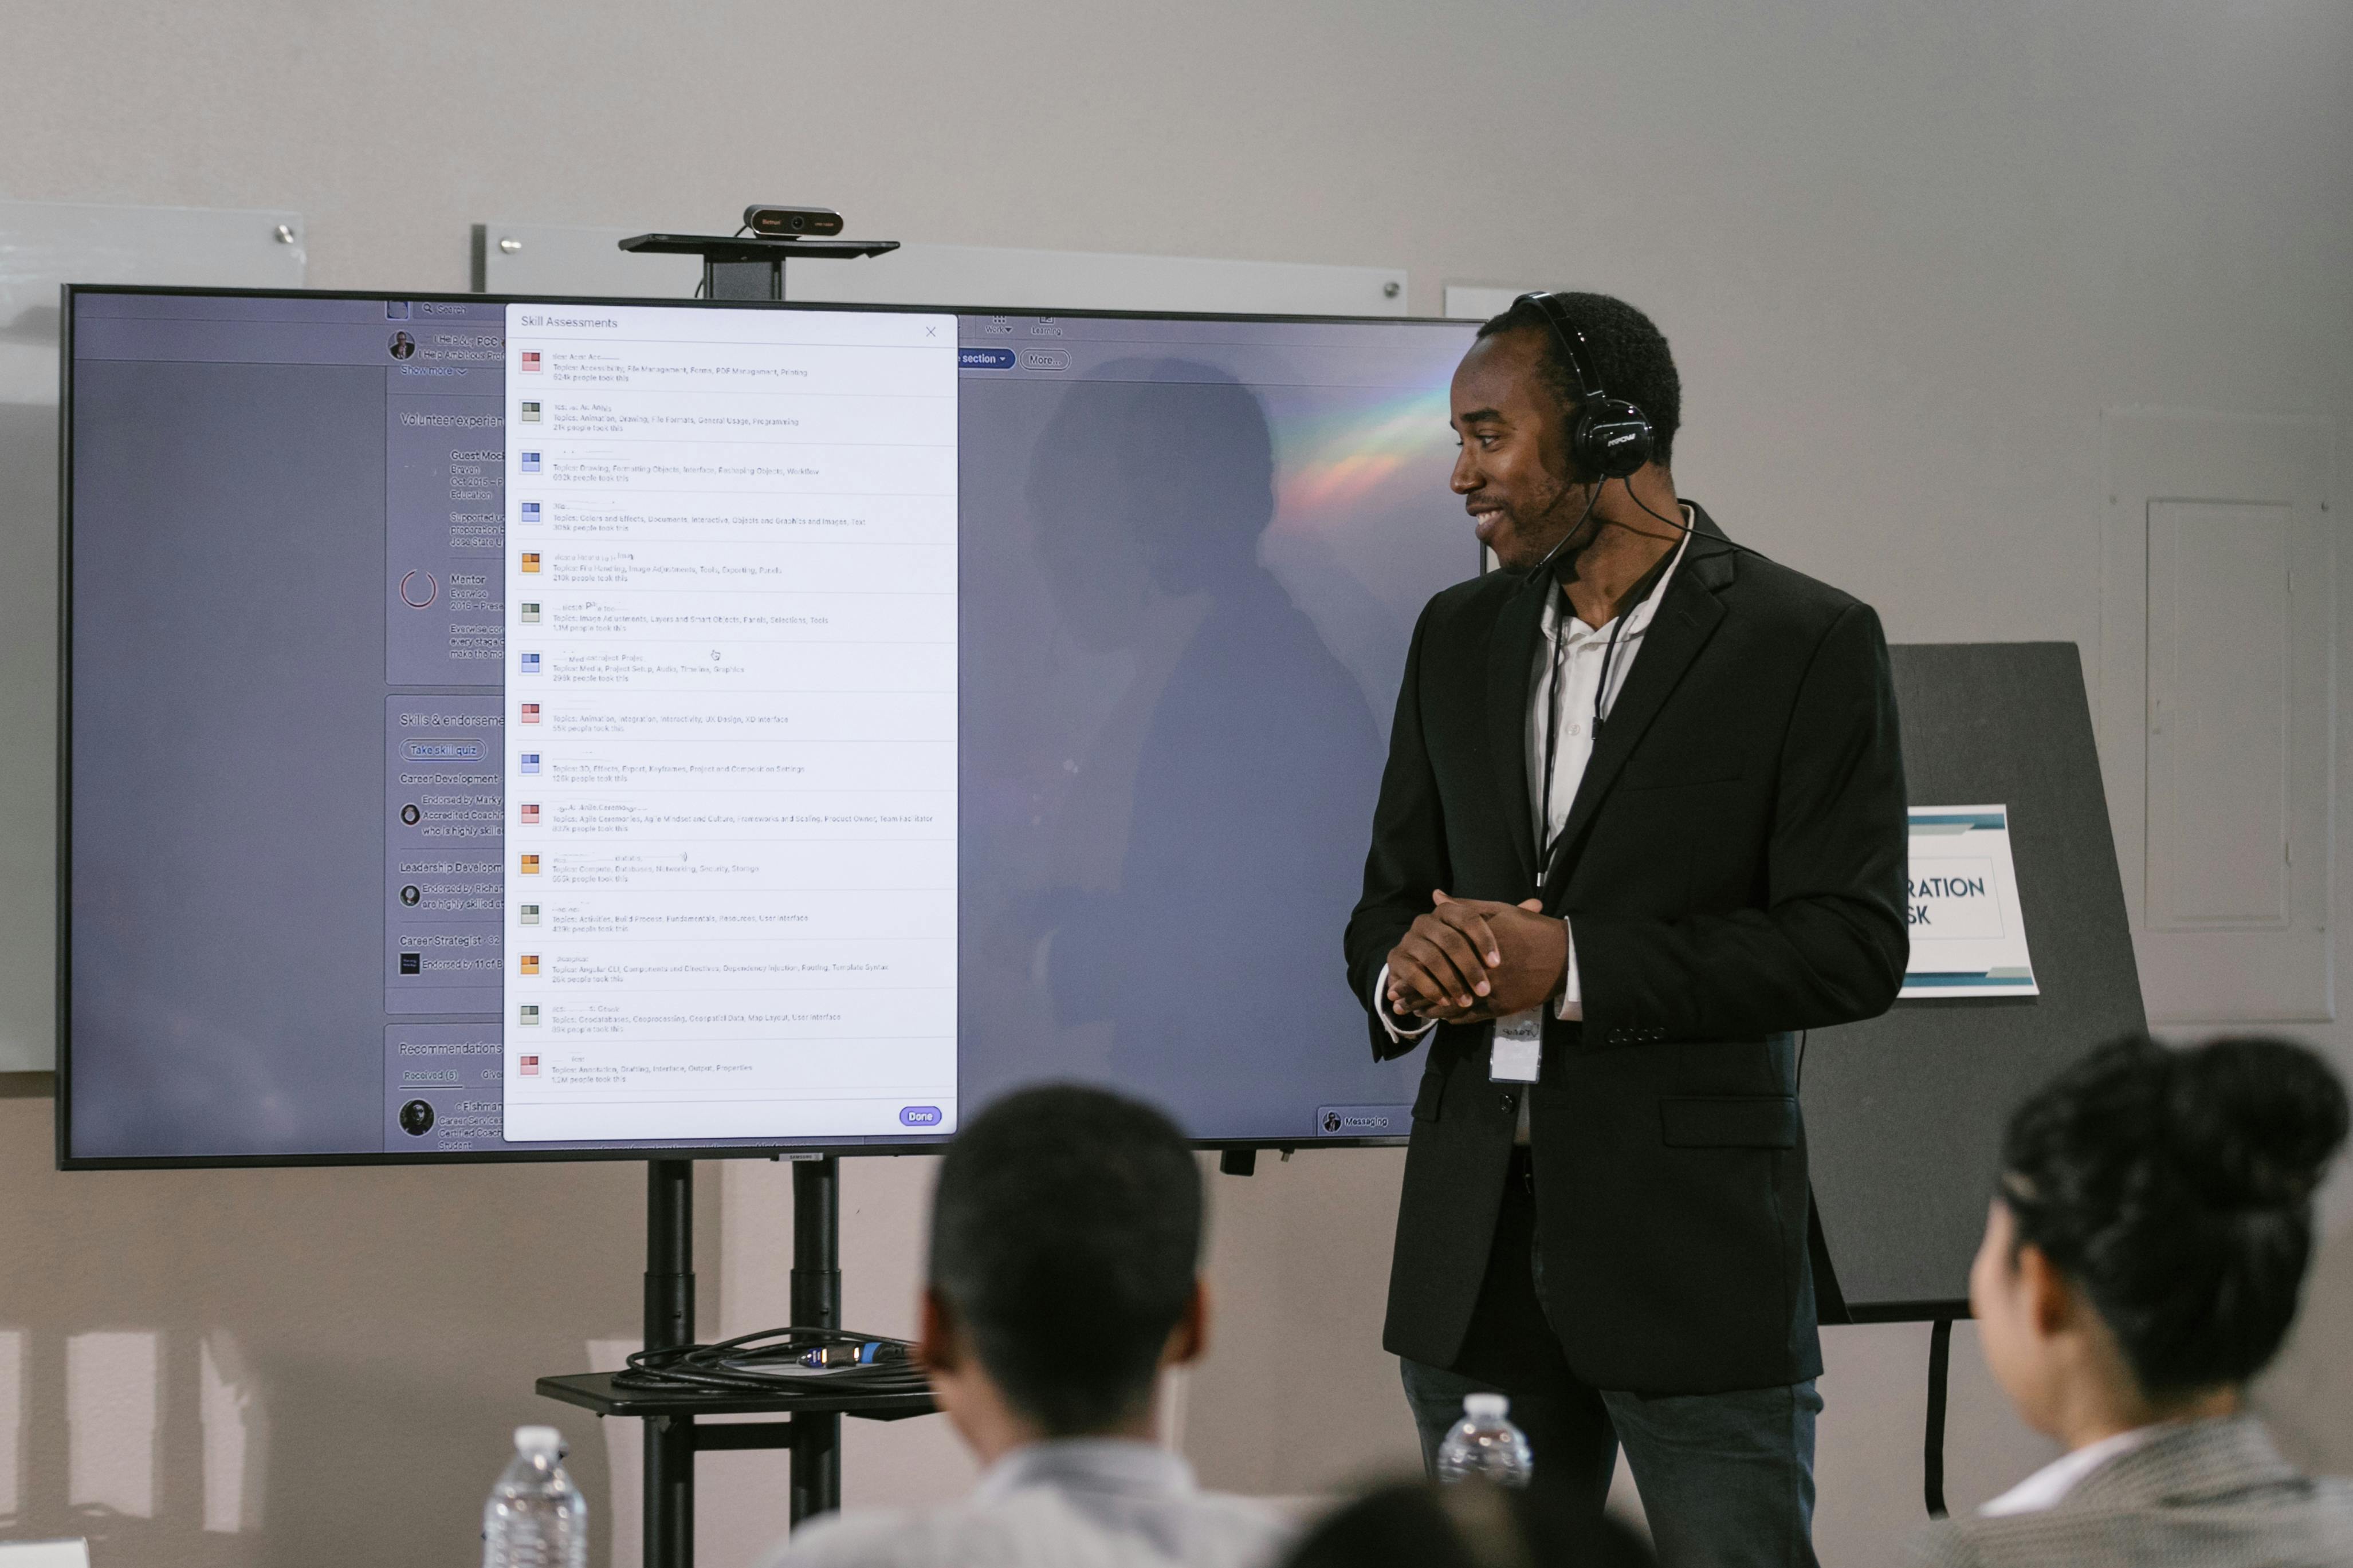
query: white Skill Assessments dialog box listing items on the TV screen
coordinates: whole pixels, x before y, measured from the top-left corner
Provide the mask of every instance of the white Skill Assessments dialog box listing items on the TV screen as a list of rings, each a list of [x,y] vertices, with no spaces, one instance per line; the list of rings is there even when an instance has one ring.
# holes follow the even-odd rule
[[[506,1138],[955,1128],[955,317],[508,306]]]

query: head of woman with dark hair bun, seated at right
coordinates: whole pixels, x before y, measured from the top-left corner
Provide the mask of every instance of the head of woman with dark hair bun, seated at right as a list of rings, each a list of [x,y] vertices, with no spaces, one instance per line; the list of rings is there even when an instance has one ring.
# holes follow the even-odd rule
[[[2297,1316],[2344,1138],[2337,1077],[2275,1039],[2120,1039],[2028,1098],[1969,1272],[2028,1425],[2073,1446],[2233,1413]]]

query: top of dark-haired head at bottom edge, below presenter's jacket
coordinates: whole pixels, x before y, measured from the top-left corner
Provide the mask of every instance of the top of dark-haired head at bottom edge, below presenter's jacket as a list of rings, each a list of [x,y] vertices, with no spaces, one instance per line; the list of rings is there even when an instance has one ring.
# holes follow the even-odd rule
[[[1384,1486],[1325,1516],[1285,1568],[1649,1568],[1614,1519],[1574,1519],[1551,1493],[1485,1481]]]

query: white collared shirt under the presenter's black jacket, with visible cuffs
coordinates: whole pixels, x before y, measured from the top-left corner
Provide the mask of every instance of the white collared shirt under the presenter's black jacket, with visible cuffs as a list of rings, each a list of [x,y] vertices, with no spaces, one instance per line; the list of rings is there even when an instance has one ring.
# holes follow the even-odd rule
[[[1577,804],[1577,785],[1584,783],[1586,764],[1593,759],[1595,696],[1600,698],[1600,715],[1607,719],[1609,708],[1617,705],[1619,691],[1626,689],[1626,672],[1633,670],[1633,661],[1642,651],[1649,623],[1659,616],[1659,604],[1666,599],[1666,585],[1675,581],[1675,571],[1682,569],[1682,555],[1692,548],[1692,534],[1699,527],[1699,520],[1692,517],[1692,508],[1682,508],[1682,541],[1675,545],[1675,555],[1666,562],[1666,571],[1661,571],[1652,590],[1642,595],[1642,602],[1624,614],[1626,625],[1617,632],[1614,654],[1609,651],[1609,632],[1617,628],[1617,621],[1586,625],[1569,614],[1567,592],[1551,592],[1544,599],[1544,635],[1537,639],[1525,731],[1527,799],[1534,809],[1539,858],[1553,842],[1553,835],[1560,832],[1562,823],[1569,820],[1569,806]],[[1600,691],[1605,656],[1609,663],[1609,691]],[[1560,663],[1558,691],[1553,689],[1555,661]],[[1560,703],[1558,712],[1553,710],[1555,701]],[[1546,797],[1544,790],[1544,741],[1548,712],[1558,724],[1551,797]],[[1560,987],[1560,997],[1553,999],[1553,1016],[1584,1018],[1586,992],[1584,978],[1577,973],[1577,931],[1569,929],[1567,936],[1569,973]],[[1388,1037],[1400,1044],[1407,1039],[1421,1039],[1435,1023],[1433,1018],[1424,1018],[1419,1027],[1398,1027],[1398,1016],[1388,1006],[1388,964],[1381,964],[1381,973],[1372,983],[1372,1011],[1381,1020],[1381,1027],[1388,1030]],[[1497,1027],[1501,1027],[1501,1020]],[[1527,1143],[1527,1095],[1520,1095],[1520,1143]]]

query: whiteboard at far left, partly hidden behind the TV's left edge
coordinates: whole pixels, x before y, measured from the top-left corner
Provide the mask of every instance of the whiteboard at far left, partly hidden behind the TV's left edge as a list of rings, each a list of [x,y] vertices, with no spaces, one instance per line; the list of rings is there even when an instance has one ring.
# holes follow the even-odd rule
[[[0,202],[0,1072],[56,1063],[56,289],[299,289],[294,212]]]

